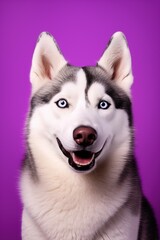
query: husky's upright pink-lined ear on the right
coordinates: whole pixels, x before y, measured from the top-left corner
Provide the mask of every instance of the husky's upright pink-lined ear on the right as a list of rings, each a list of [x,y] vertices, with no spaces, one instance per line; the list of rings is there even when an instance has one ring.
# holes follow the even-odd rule
[[[133,83],[131,55],[122,32],[113,34],[98,65],[107,71],[111,80],[130,95],[130,88]]]

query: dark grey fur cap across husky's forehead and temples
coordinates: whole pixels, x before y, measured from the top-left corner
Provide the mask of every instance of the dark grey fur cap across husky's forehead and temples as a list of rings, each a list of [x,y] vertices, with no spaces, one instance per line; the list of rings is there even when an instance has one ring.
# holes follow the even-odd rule
[[[87,78],[87,86],[85,89],[86,96],[87,96],[88,89],[92,85],[92,83],[94,82],[101,83],[104,87],[106,87],[106,93],[112,97],[115,103],[115,107],[119,109],[124,109],[127,112],[129,116],[130,126],[132,126],[131,102],[129,100],[129,97],[123,92],[123,90],[121,90],[114,83],[112,83],[107,73],[99,66],[83,67],[82,69],[84,70]],[[53,98],[53,96],[60,91],[62,85],[65,82],[69,82],[69,81],[74,82],[76,80],[76,74],[79,70],[80,70],[79,67],[72,67],[69,64],[67,64],[59,72],[56,79],[50,80],[48,84],[43,86],[33,95],[30,102],[28,126],[29,126],[29,121],[34,112],[35,107],[49,103],[50,100]],[[27,129],[29,129],[28,126],[27,126]],[[27,131],[28,131],[27,134],[29,135],[29,130]],[[27,163],[28,167],[31,169],[32,175],[35,175],[35,168],[32,163],[34,162],[34,159],[30,154],[29,146],[28,146],[28,151],[25,159],[26,159],[25,162]]]

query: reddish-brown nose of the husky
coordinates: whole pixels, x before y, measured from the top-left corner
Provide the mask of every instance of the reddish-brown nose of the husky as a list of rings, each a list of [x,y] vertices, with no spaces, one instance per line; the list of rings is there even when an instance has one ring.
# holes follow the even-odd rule
[[[87,147],[97,139],[97,132],[91,127],[80,126],[73,131],[73,138],[78,145]]]

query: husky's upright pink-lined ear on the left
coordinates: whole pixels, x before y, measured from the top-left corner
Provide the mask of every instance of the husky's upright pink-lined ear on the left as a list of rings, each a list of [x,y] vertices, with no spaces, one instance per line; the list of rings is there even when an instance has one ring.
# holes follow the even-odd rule
[[[52,35],[41,33],[33,53],[30,71],[32,94],[47,81],[53,80],[65,64],[66,61]]]

